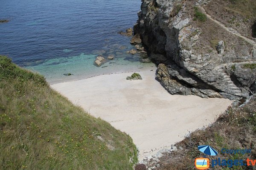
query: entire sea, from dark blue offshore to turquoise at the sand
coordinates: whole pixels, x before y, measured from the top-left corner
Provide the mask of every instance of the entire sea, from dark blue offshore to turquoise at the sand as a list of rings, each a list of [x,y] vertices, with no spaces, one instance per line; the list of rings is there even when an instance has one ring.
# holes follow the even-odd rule
[[[0,54],[38,71],[49,81],[146,67],[133,49],[131,37],[117,34],[133,27],[140,0],[1,0]],[[121,48],[122,47],[122,48]],[[115,59],[98,68],[97,54]],[[104,67],[105,66],[105,67]]]

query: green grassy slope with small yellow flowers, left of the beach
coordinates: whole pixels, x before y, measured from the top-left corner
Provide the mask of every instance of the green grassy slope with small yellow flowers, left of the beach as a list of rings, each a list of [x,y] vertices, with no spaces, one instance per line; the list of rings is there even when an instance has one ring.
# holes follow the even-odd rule
[[[0,153],[4,170],[128,170],[137,162],[128,135],[88,115],[52,90],[44,77],[3,56]]]

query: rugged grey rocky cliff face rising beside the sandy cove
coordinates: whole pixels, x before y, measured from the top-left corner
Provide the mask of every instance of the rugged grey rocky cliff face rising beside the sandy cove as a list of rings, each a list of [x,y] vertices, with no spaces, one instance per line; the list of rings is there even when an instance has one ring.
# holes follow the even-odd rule
[[[255,39],[208,15],[208,3],[142,0],[134,34],[158,64],[157,79],[169,93],[241,100],[256,93]]]

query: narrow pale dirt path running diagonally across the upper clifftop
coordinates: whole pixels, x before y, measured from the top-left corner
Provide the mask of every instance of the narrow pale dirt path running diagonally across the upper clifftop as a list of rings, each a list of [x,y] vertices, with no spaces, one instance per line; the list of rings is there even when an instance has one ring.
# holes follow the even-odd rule
[[[253,41],[253,40],[251,40],[251,39],[249,39],[249,38],[247,38],[247,37],[242,36],[241,34],[239,34],[238,32],[236,32],[233,28],[227,28],[227,27],[224,26],[224,24],[222,24],[221,22],[219,22],[219,21],[213,19],[209,14],[207,14],[207,12],[204,10],[204,7],[199,6],[199,8],[204,12],[204,14],[207,15],[207,17],[208,17],[210,20],[214,21],[215,23],[217,23],[219,26],[221,26],[221,27],[224,28],[226,31],[230,32],[231,34],[234,34],[234,35],[236,35],[236,36],[238,36],[238,37],[241,37],[242,39],[244,39],[245,41],[247,41],[248,43],[250,43],[251,45],[253,45],[254,48],[256,48],[256,42],[255,42],[255,41]]]

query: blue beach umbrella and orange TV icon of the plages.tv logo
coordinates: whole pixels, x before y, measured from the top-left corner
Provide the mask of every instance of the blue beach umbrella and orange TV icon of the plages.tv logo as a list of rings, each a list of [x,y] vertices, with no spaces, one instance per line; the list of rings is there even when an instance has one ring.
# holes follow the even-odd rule
[[[218,152],[209,145],[198,146],[198,150],[200,150],[202,153],[206,155],[218,155]],[[208,158],[197,158],[195,159],[195,167],[198,170],[207,170],[210,167],[210,160]]]

